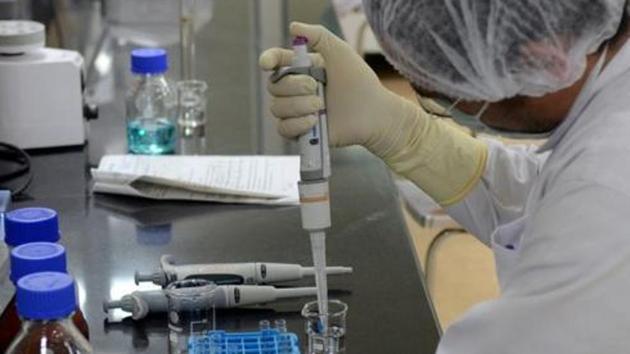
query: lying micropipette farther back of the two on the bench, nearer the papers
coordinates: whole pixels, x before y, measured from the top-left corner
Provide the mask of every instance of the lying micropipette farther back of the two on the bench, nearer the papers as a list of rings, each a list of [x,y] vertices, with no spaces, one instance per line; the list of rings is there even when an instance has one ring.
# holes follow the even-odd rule
[[[328,267],[330,275],[350,274],[350,267]],[[160,269],[151,274],[136,272],[136,284],[153,282],[162,287],[190,278],[205,279],[217,285],[223,284],[276,284],[314,276],[313,267],[284,263],[215,263],[175,264],[171,255],[160,257]]]

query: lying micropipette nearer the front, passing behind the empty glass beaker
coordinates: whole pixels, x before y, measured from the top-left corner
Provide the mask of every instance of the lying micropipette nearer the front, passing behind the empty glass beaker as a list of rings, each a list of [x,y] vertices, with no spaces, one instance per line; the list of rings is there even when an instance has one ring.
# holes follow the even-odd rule
[[[282,289],[259,285],[216,285],[212,290],[212,300],[208,302],[207,308],[227,309],[259,305],[280,299],[309,297],[316,294],[317,289],[313,287]],[[149,313],[166,312],[168,299],[163,289],[134,291],[120,300],[103,302],[103,311],[108,312],[113,309],[130,312],[134,320],[139,320]]]

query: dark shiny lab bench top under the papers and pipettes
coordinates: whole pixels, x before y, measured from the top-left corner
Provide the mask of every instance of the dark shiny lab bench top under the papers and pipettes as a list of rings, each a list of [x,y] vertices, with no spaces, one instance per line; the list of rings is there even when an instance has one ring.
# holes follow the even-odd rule
[[[87,150],[34,154],[30,198],[12,207],[58,211],[61,243],[67,247],[69,271],[77,280],[96,353],[168,352],[164,315],[134,322],[123,313],[106,316],[102,310],[103,300],[136,290],[134,272],[157,269],[163,254],[182,263],[312,264],[298,207],[95,195],[90,192]],[[360,148],[336,151],[333,171],[328,264],[354,268],[352,275],[329,277],[331,298],[349,305],[347,353],[433,353],[439,330],[390,173]],[[220,311],[217,325],[252,330],[259,320],[283,318],[305,343],[300,316],[305,302]]]

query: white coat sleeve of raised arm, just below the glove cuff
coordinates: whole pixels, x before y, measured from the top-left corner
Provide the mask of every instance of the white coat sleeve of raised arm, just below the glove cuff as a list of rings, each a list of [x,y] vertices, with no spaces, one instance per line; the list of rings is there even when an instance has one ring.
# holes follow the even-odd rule
[[[523,215],[531,186],[539,175],[548,153],[536,147],[507,146],[487,140],[488,161],[477,186],[447,212],[468,232],[489,245],[490,235],[499,226]]]

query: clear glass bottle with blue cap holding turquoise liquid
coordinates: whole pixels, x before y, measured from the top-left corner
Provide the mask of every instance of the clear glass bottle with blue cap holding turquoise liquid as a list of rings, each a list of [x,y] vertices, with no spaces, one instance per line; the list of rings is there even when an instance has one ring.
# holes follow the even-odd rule
[[[127,145],[132,154],[175,152],[176,94],[166,79],[168,55],[159,48],[131,52],[133,83],[127,94]]]

